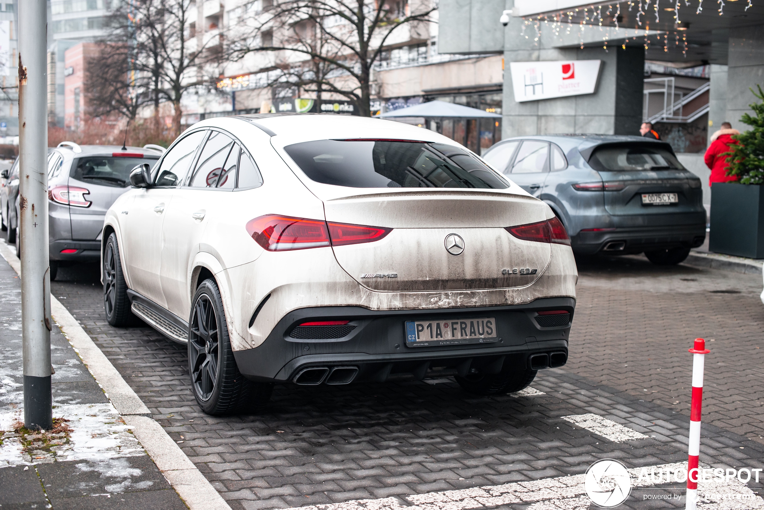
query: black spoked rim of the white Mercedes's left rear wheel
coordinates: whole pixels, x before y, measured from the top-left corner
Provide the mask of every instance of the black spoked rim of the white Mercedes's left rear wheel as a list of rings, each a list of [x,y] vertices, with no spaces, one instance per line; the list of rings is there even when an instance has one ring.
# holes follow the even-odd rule
[[[207,294],[194,304],[189,335],[189,362],[194,393],[202,401],[209,401],[218,382],[220,345],[218,316]]]

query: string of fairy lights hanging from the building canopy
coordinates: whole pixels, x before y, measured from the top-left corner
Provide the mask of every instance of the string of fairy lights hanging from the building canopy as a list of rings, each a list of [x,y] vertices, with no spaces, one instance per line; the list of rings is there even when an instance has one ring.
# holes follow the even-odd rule
[[[734,2],[734,0],[730,0]],[[656,23],[660,22],[660,0],[627,0],[626,2],[617,2],[615,5],[611,4],[592,4],[588,7],[574,8],[569,11],[557,11],[553,13],[546,13],[542,15],[523,16],[523,30],[520,32],[521,37],[529,39],[533,37],[533,41],[538,45],[539,38],[541,37],[542,28],[551,28],[555,38],[559,38],[560,42],[563,41],[563,35],[570,35],[571,31],[578,31],[579,39],[581,41],[581,49],[584,48],[584,34],[586,31],[597,29],[602,33],[602,44],[605,51],[608,50],[608,44],[610,42],[611,28],[618,30],[621,18],[621,3],[625,3],[629,6],[630,12],[636,11],[636,27],[633,28],[633,35],[629,36],[629,31],[632,29],[626,29],[626,33],[620,32],[618,38],[622,40],[625,37],[625,41],[621,43],[621,47],[626,49],[626,44],[630,42],[641,41],[645,50],[649,50],[654,44],[662,46],[665,52],[668,52],[670,48],[674,47],[681,50],[684,57],[687,57],[687,24],[681,26],[681,19],[679,18],[679,11],[684,2],[684,7],[690,7],[691,4],[688,0],[669,0],[671,7],[663,8],[664,11],[672,11],[675,30],[650,30],[650,18],[649,11],[652,11],[652,15],[655,15]],[[724,15],[724,0],[717,0],[718,9],[717,12],[720,16]],[[753,7],[751,0],[747,0],[746,11]],[[624,5],[625,8],[625,5]],[[700,14],[703,11],[703,0],[698,0],[698,8],[695,9],[695,14]],[[612,22],[614,27],[609,23]],[[605,23],[605,26],[603,26]],[[578,30],[575,30],[575,25],[578,25]],[[526,34],[526,31],[533,29],[533,33]]]

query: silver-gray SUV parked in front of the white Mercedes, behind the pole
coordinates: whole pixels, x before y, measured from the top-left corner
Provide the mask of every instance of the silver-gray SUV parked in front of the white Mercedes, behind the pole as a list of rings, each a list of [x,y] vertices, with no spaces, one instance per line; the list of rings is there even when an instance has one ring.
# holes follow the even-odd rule
[[[100,260],[106,210],[130,187],[130,171],[141,163],[154,167],[163,151],[159,145],[139,148],[77,145],[71,141],[63,141],[50,150],[47,169],[51,280],[56,278],[60,265]],[[15,218],[18,193],[13,218],[7,223],[8,240],[13,239],[18,252]]]

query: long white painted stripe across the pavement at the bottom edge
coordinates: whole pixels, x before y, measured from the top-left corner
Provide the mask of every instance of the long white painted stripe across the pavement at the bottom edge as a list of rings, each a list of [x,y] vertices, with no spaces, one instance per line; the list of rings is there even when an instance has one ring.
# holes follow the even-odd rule
[[[687,473],[687,463],[661,464],[629,469],[634,488],[649,488],[675,483],[677,471]],[[672,473],[671,482],[667,474]],[[587,510],[591,500],[584,490],[585,475],[559,476],[533,482],[513,482],[500,486],[472,487],[442,492],[428,492],[405,496],[411,505],[402,505],[400,499],[356,499],[329,505],[310,505],[288,510],[468,510],[499,505],[531,503],[528,510]],[[685,495],[681,489],[668,489]],[[698,508],[704,510],[732,510],[764,508],[764,499],[737,479],[711,478],[698,483]]]

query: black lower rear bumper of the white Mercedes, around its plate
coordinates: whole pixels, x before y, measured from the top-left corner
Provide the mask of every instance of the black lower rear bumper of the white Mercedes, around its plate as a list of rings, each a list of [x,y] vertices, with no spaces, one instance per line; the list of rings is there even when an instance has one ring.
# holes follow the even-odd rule
[[[568,356],[570,323],[542,327],[536,312],[567,310],[572,321],[575,299],[547,297],[523,305],[441,310],[372,311],[361,307],[311,307],[294,310],[277,324],[264,343],[235,351],[239,371],[261,382],[292,382],[307,368],[354,367],[354,382],[384,382],[469,373],[497,373],[534,368],[544,355],[555,354],[552,366]],[[456,320],[495,317],[495,343],[459,346],[406,346],[407,320]],[[549,317],[549,316],[548,316]],[[340,339],[295,339],[294,328],[309,320],[350,320],[350,333]],[[536,355],[541,355],[536,356]],[[549,363],[547,363],[549,365]]]

